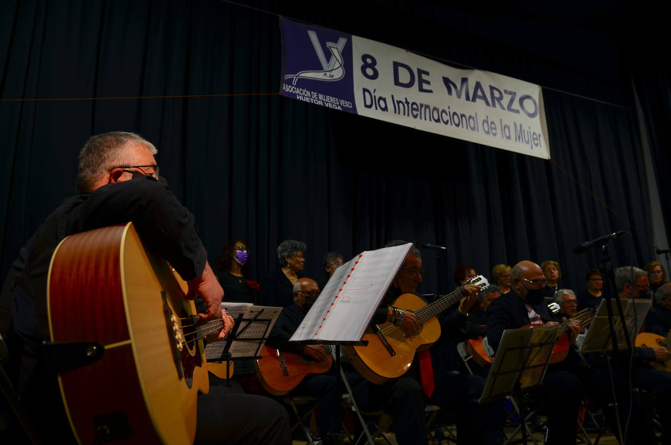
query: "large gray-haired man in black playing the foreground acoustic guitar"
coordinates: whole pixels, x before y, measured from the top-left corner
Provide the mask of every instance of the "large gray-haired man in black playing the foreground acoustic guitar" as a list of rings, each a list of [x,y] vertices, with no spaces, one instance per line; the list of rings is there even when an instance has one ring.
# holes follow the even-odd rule
[[[46,218],[7,276],[0,296],[0,331],[10,353],[7,373],[28,415],[50,438],[74,442],[56,373],[42,350],[42,341],[50,338],[48,268],[64,237],[132,221],[142,243],[168,260],[188,282],[189,294],[205,302],[207,313],[199,314],[201,319],[221,317],[223,290],[207,264],[194,217],[156,180],[154,154],[154,145],[134,133],[92,136],[79,154],[81,194],[64,200]],[[223,321],[219,338],[232,327],[227,315]],[[215,392],[197,397],[196,442],[291,443],[281,405],[264,397]]]

